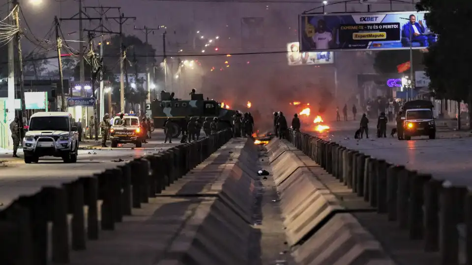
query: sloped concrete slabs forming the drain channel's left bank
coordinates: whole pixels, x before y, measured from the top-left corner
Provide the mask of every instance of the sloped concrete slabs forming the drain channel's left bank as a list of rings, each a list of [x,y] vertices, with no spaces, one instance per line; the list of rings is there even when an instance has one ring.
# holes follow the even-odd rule
[[[256,152],[251,140],[233,138],[179,181],[189,186],[206,179],[200,195],[216,196],[200,203],[158,265],[250,264]]]

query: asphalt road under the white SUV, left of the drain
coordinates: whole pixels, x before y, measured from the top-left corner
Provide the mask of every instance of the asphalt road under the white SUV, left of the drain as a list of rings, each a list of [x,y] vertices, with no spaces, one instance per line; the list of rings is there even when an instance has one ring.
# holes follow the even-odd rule
[[[26,164],[21,150],[18,151],[21,157],[18,159],[12,158],[11,153],[0,154],[0,209],[20,195],[35,193],[41,186],[61,185],[77,177],[100,173],[131,159],[164,151],[180,143],[176,139],[172,144],[164,144],[164,133],[158,129],[151,138],[142,148],[126,144],[113,149],[91,147],[89,150],[79,150],[77,163],[71,164],[54,157],[44,157],[38,163]],[[109,143],[107,145],[110,146]],[[123,161],[117,162],[118,159]]]

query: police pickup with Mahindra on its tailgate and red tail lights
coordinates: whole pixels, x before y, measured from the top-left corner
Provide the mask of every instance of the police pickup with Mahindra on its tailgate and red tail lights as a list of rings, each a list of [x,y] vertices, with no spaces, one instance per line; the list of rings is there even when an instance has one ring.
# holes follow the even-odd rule
[[[142,132],[139,119],[134,114],[124,114],[124,126],[120,124],[119,114],[113,119],[110,129],[110,141],[112,147],[118,147],[119,143],[133,143],[136,147],[142,146]]]

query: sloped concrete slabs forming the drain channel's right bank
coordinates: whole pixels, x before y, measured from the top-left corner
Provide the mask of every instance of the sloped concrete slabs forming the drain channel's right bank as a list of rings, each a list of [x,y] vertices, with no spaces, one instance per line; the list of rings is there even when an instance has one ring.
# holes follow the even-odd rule
[[[283,140],[266,145],[286,227],[299,265],[394,264],[380,243],[320,181],[321,166]],[[336,192],[346,192],[336,188]]]

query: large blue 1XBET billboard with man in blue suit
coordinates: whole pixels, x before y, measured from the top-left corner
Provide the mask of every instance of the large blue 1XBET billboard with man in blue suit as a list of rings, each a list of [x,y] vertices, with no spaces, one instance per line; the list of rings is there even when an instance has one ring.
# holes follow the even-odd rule
[[[426,49],[438,37],[425,12],[303,14],[301,51]]]

